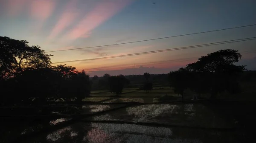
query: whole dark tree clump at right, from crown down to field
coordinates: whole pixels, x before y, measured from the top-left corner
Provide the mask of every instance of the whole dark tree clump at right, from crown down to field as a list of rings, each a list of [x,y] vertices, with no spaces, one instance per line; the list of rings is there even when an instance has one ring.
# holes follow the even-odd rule
[[[245,69],[245,66],[238,66],[241,54],[238,50],[218,50],[202,56],[197,62],[188,64],[185,68],[169,73],[169,83],[174,87],[175,93],[182,95],[184,90],[198,93],[211,93],[216,98],[218,93],[228,91],[238,93],[238,76]]]

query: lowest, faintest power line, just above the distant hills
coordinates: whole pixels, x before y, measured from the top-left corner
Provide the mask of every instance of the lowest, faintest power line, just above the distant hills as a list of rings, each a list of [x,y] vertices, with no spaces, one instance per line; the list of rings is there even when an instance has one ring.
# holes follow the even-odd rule
[[[256,51],[255,50],[250,50],[250,51],[242,51],[240,53],[255,53]],[[200,58],[200,56],[197,56],[197,57],[191,57],[191,58],[180,58],[180,59],[172,59],[172,60],[165,60],[165,61],[158,61],[158,62],[147,62],[147,63],[139,63],[139,64],[136,64],[138,66],[145,66],[145,65],[151,65],[151,64],[162,64],[162,63],[169,63],[169,62],[176,62],[176,61],[179,61],[179,62],[184,62],[184,61],[189,61],[190,59],[198,59]],[[130,65],[130,66],[128,66]],[[111,67],[131,67],[131,64],[127,64],[127,66],[111,66]],[[92,72],[92,71],[95,71],[95,70],[106,70],[108,68],[111,68],[110,66],[109,67],[98,67],[98,68],[90,68],[90,69],[84,69],[85,71],[87,72]],[[77,69],[77,70],[82,70],[82,69]]]

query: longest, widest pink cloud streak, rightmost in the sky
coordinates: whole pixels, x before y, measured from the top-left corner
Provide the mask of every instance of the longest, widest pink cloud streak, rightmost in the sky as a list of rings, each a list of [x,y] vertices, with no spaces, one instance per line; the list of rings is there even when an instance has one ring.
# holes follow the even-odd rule
[[[113,17],[122,8],[128,5],[131,0],[104,0],[96,5],[81,22],[71,30],[69,36],[71,39],[79,37],[88,37],[91,31],[100,24]]]

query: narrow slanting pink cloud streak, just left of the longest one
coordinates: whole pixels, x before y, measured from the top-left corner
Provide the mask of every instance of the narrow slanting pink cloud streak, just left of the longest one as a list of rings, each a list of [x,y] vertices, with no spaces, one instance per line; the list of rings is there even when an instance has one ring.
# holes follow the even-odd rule
[[[52,29],[49,38],[54,38],[55,36],[57,36],[61,31],[64,30],[64,28],[67,28],[67,26],[69,26],[78,16],[78,13],[76,11],[76,2],[77,0],[70,0],[70,2],[67,3],[66,7],[64,8],[64,13],[61,15],[57,24]]]

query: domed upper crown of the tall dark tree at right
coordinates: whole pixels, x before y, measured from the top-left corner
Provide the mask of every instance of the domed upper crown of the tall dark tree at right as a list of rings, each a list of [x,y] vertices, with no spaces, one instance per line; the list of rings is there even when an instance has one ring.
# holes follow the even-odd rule
[[[186,69],[198,72],[239,72],[245,70],[245,66],[236,66],[242,55],[238,50],[218,50],[202,56],[197,62],[188,64]]]

